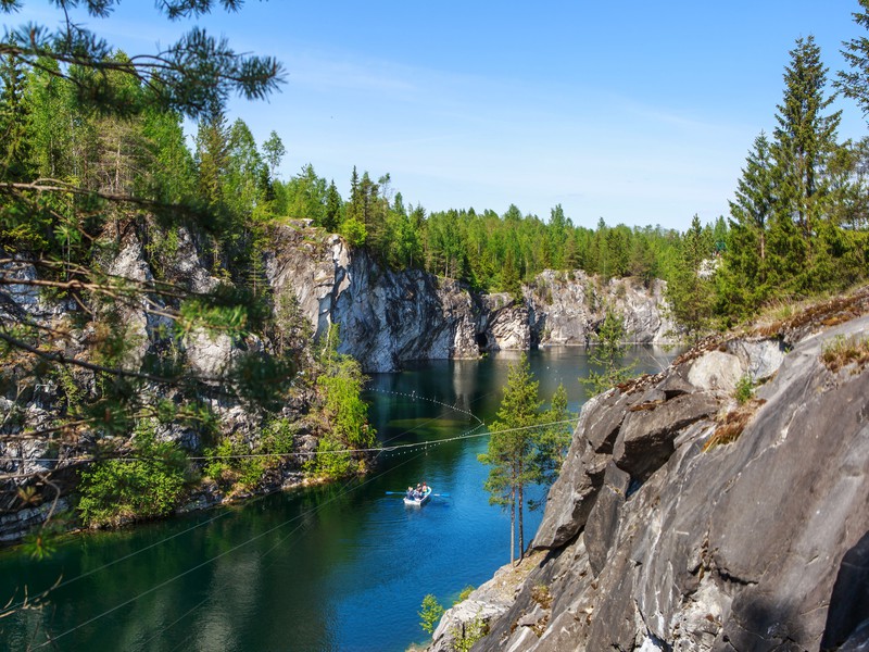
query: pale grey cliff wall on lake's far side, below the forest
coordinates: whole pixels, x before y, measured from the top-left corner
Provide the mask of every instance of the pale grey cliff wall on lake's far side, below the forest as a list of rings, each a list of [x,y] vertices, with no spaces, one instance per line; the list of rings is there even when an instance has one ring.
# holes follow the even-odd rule
[[[628,279],[600,286],[582,272],[546,271],[515,302],[418,269],[382,269],[304,222],[276,227],[272,241],[266,276],[275,294],[293,292],[316,335],[338,324],[341,351],[366,372],[538,344],[584,346],[594,341],[605,304],[625,315],[631,342],[668,342],[676,330],[662,281],[648,289]]]

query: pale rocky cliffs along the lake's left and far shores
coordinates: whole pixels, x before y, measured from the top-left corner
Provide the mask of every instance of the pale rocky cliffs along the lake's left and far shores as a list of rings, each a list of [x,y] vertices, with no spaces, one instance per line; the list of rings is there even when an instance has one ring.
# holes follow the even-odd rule
[[[168,283],[193,292],[212,290],[219,280],[210,272],[194,234],[181,228],[176,235],[174,249],[162,250],[160,260],[154,262],[149,259],[141,234],[133,227],[125,228],[117,255],[103,264],[109,274],[139,284],[153,281],[152,267],[159,265]],[[37,278],[33,265],[7,267],[8,274],[22,279]],[[525,286],[521,301],[516,301],[505,293],[475,292],[455,280],[418,269],[381,269],[364,251],[351,251],[340,237],[312,228],[306,221],[273,227],[264,268],[267,290],[276,306],[292,294],[301,317],[310,323],[315,336],[326,333],[332,324],[339,325],[339,350],[360,361],[366,373],[398,371],[417,360],[476,359],[491,351],[527,350],[534,346],[583,346],[594,340],[594,329],[603,319],[605,305],[622,312],[631,341],[669,341],[675,329],[666,316],[662,281],[645,288],[631,279],[601,284],[581,272],[546,271]],[[32,285],[8,286],[7,293],[9,301],[3,310],[24,313],[46,327],[85,318],[73,302],[52,302]],[[130,369],[140,368],[148,356],[168,351],[190,369],[218,376],[245,350],[267,350],[274,346],[264,333],[252,333],[244,341],[234,341],[225,335],[192,331],[175,341],[167,335],[172,329],[166,318],[155,316],[144,305],[125,303],[117,311],[128,339],[134,342],[124,361]],[[65,355],[87,359],[89,328],[88,324],[68,328]],[[95,389],[92,374],[77,372],[68,380],[79,388],[76,391],[87,393]],[[0,397],[0,406],[21,415],[20,423],[7,428],[5,435],[10,437],[0,440],[0,473],[8,476],[0,487],[0,542],[17,541],[45,521],[47,507],[23,504],[17,498],[17,491],[32,482],[32,478],[51,473],[64,504],[70,503],[76,491],[76,465],[91,450],[86,431],[76,432],[62,444],[52,444],[50,437],[18,437],[62,421],[66,390],[49,383],[21,396]],[[209,391],[203,388],[203,392]],[[311,388],[294,388],[282,414],[282,418],[298,425],[293,450],[300,454],[317,446],[318,427],[308,427],[304,422],[312,392]],[[218,416],[222,437],[231,437],[251,450],[257,446],[263,427],[261,417],[241,404],[225,404],[218,393],[203,396],[203,401],[210,402]],[[155,436],[161,441],[177,443],[190,455],[201,454],[204,447],[193,429],[175,423],[159,425]],[[128,442],[121,439],[116,443],[124,450]],[[291,460],[268,472],[256,491],[275,491],[288,482],[305,481],[300,477],[301,466]],[[53,489],[43,487],[42,493],[45,502],[53,500]],[[206,485],[196,490],[190,506],[182,510],[240,498],[227,497],[216,485]]]

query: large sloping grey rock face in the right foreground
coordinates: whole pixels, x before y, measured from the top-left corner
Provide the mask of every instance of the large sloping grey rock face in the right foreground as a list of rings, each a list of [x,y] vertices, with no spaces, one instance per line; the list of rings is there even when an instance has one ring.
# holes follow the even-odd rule
[[[546,555],[474,650],[866,650],[869,366],[822,354],[867,346],[869,316],[799,328],[786,355],[784,337],[711,342],[590,401],[533,541]],[[768,380],[739,406],[743,376]]]

